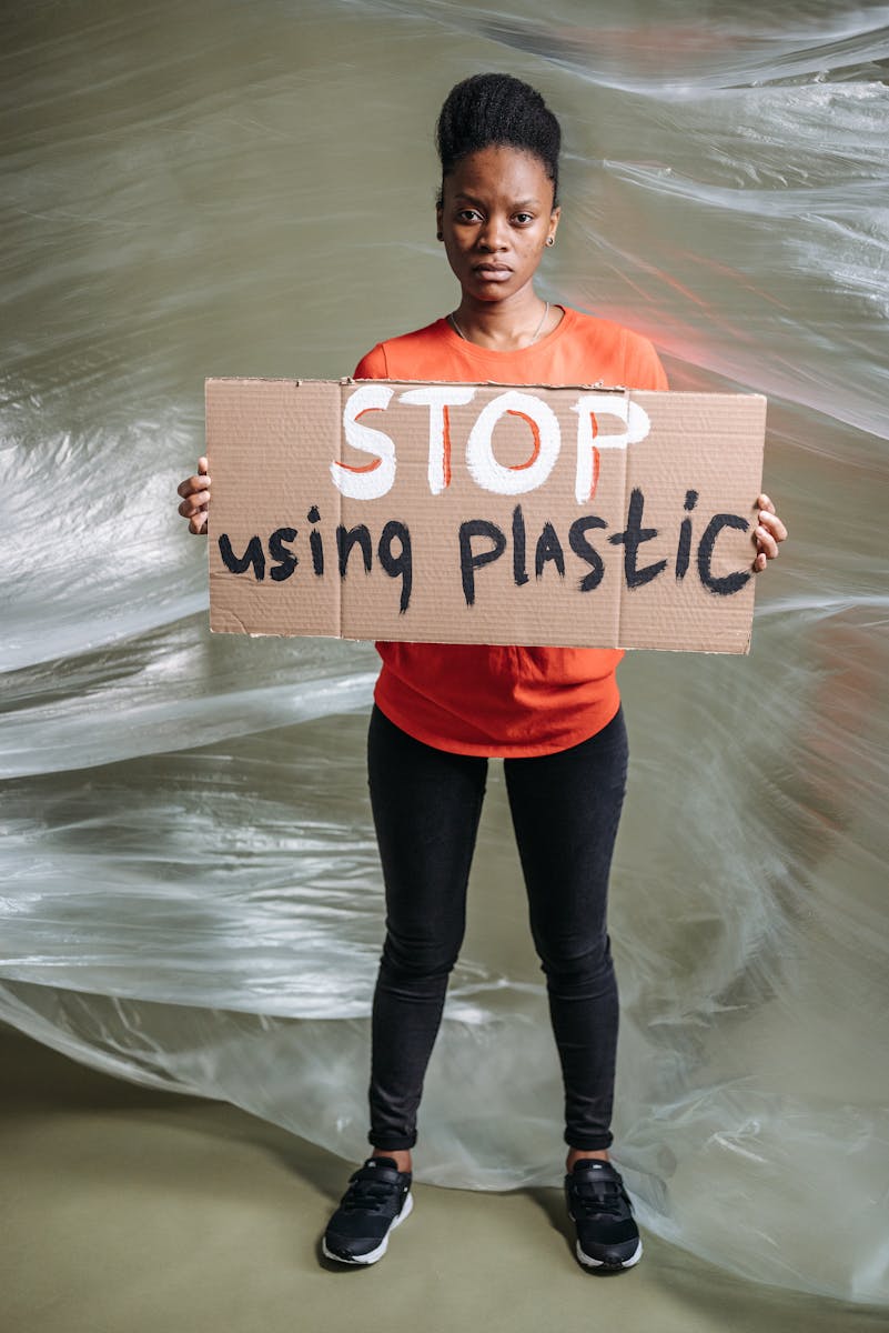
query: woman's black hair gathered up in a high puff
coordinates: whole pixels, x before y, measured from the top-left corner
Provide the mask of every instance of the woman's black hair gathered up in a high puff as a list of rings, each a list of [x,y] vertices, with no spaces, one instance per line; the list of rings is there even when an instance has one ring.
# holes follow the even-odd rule
[[[467,153],[491,145],[522,148],[538,157],[552,181],[555,207],[562,129],[540,93],[512,75],[464,79],[448,92],[435,125],[442,176],[450,176]]]

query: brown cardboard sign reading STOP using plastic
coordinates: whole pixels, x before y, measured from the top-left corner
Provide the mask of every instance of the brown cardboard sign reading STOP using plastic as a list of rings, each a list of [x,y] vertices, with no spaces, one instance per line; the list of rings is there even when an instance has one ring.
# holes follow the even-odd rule
[[[765,399],[206,381],[210,628],[744,653]]]

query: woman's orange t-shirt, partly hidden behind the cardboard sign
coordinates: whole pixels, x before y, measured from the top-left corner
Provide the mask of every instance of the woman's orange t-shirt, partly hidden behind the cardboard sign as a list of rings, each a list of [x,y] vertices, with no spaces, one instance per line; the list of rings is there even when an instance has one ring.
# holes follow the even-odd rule
[[[516,352],[478,347],[437,320],[378,343],[354,377],[668,387],[648,339],[567,308],[552,333]],[[456,754],[552,754],[595,736],[620,706],[622,649],[390,643],[377,649],[379,709],[409,736]]]

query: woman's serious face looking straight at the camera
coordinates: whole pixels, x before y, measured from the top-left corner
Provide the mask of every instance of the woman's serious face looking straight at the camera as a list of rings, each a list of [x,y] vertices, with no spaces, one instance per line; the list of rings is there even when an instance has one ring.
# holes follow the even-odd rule
[[[438,225],[463,293],[506,301],[530,287],[560,209],[539,157],[520,148],[482,148],[463,157],[442,187]]]

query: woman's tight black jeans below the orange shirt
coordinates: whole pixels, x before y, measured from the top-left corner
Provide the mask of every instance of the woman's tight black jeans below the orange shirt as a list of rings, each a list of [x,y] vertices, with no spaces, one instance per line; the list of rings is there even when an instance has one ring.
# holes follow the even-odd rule
[[[606,909],[627,778],[623,713],[580,745],[503,766],[562,1062],[566,1142],[608,1148],[618,986]],[[417,1142],[426,1066],[463,942],[487,760],[425,745],[374,708],[369,774],[386,884],[369,1138],[391,1152]]]

